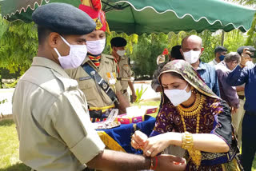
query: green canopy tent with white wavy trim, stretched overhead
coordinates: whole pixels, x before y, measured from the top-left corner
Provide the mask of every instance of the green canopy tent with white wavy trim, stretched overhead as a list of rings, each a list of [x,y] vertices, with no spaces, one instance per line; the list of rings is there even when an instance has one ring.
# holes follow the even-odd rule
[[[2,17],[31,22],[35,8],[50,2],[79,6],[80,0],[0,0]],[[102,0],[110,30],[126,34],[184,30],[250,29],[255,10],[222,0]]]

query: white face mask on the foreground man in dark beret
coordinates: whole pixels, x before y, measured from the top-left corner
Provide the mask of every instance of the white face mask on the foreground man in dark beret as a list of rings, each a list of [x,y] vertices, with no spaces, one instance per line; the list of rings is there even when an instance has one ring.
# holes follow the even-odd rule
[[[78,68],[86,58],[86,45],[70,45],[70,43],[66,42],[64,38],[62,38],[62,40],[66,45],[70,46],[70,54],[67,56],[61,56],[61,54],[58,53],[58,50],[54,48],[56,54],[58,54],[59,63],[63,69]]]

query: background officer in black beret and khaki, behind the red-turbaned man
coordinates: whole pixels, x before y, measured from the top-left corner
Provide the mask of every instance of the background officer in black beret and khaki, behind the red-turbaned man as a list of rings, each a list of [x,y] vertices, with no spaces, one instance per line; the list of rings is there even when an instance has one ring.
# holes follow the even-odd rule
[[[126,39],[121,37],[112,38],[110,44],[112,48],[111,54],[114,57],[114,61],[118,65],[118,78],[120,79],[120,83],[122,85],[121,92],[126,97],[126,100],[129,101],[129,93],[127,91],[129,85],[132,92],[131,101],[135,101],[137,96],[134,90],[134,84],[130,81],[132,76],[132,71],[130,70],[130,59],[125,57],[125,47],[127,44]]]

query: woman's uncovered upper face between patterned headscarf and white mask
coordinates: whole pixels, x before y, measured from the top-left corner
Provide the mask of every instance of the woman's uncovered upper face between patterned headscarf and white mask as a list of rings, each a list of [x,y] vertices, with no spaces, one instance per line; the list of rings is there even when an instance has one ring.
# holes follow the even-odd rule
[[[188,82],[185,80],[175,77],[171,74],[164,73],[161,77],[163,89],[185,89]],[[190,91],[190,85],[187,86],[186,92]]]

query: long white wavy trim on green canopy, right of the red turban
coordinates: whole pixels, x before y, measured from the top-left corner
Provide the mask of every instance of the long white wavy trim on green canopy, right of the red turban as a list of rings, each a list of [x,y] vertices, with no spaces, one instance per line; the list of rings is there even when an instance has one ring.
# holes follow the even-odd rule
[[[120,3],[120,2],[126,2],[126,3],[130,4],[130,6],[132,6],[132,7],[134,8],[134,10],[136,10],[136,11],[142,11],[142,10],[145,10],[146,8],[150,8],[150,9],[154,10],[157,14],[164,14],[164,13],[166,13],[166,12],[173,12],[173,13],[177,16],[177,18],[179,18],[179,19],[185,18],[186,16],[190,16],[190,17],[194,20],[194,22],[199,22],[202,18],[205,18],[205,19],[206,19],[206,22],[208,22],[210,25],[214,25],[215,22],[220,22],[220,24],[221,24],[222,26],[228,26],[228,25],[234,26],[234,23],[232,23],[232,22],[230,22],[230,23],[228,23],[228,24],[226,24],[226,25],[223,25],[220,20],[215,20],[214,22],[210,22],[206,17],[201,17],[201,18],[199,18],[198,20],[196,20],[196,19],[193,17],[193,15],[191,15],[191,14],[184,14],[182,17],[179,17],[178,14],[177,14],[174,10],[165,10],[165,11],[163,11],[163,12],[158,12],[157,10],[154,9],[153,6],[145,6],[145,7],[143,7],[142,9],[137,9],[137,8],[135,8],[135,6],[134,6],[133,4],[131,4],[130,2],[127,2],[127,1],[118,1],[118,2],[115,2],[115,3]],[[237,26],[237,27],[234,26],[235,29],[238,29],[238,28],[240,28],[240,27],[242,27],[242,28],[243,28],[244,30],[246,30],[246,31],[250,30],[250,28],[249,28],[249,29],[246,29],[245,26],[242,26],[242,25],[241,25],[241,26]]]

